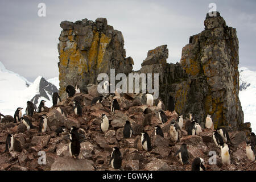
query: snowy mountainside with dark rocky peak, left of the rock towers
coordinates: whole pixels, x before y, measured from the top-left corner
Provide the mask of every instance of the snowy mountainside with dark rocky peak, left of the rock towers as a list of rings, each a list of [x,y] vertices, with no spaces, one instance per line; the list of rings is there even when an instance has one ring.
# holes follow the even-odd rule
[[[26,78],[8,71],[0,62],[0,112],[4,115],[14,115],[17,107],[23,107],[25,113],[27,101],[32,101],[36,107],[41,100],[46,100],[46,106],[52,106],[52,94],[58,92],[55,85],[46,81],[42,76],[29,82]]]

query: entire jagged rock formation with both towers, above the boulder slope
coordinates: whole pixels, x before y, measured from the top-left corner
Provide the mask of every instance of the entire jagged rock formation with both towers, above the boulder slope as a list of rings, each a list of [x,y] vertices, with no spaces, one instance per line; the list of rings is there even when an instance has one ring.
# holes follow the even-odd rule
[[[210,114],[215,128],[229,126],[240,130],[243,111],[238,97],[236,28],[226,26],[218,12],[215,17],[207,14],[204,25],[205,30],[191,36],[189,44],[183,47],[180,63],[167,63],[168,49],[163,45],[148,51],[141,70],[136,73],[159,73],[159,97],[164,104],[167,106],[172,96],[175,110],[180,114],[195,113],[201,126]],[[122,34],[108,26],[106,19],[65,21],[60,26],[63,28],[59,44],[61,95],[65,86],[75,86],[80,80],[81,86],[97,84],[97,74],[109,73],[110,68],[115,68],[116,74],[132,72],[133,61],[125,59]]]

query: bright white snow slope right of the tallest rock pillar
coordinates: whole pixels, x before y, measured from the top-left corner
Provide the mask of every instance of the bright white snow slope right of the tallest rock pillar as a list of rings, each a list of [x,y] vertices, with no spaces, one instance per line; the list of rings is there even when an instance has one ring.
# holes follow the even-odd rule
[[[239,68],[240,91],[239,98],[244,114],[244,122],[250,122],[256,133],[256,72],[248,68]]]

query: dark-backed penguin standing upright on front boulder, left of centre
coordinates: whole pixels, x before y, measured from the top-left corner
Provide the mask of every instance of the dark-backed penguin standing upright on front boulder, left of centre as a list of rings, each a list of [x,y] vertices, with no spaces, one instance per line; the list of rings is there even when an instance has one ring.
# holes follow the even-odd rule
[[[78,159],[80,153],[80,142],[79,142],[79,133],[76,127],[73,127],[71,133],[69,134],[69,139],[71,143],[69,143],[69,153],[74,159]]]

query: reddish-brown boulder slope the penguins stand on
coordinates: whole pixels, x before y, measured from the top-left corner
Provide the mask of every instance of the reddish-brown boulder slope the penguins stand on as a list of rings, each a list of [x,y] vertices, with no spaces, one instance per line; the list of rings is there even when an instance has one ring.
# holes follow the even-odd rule
[[[79,96],[79,97],[78,97]],[[72,101],[76,98],[83,105],[82,116],[77,117],[72,108]],[[0,169],[1,170],[113,170],[109,166],[110,154],[114,146],[118,146],[122,153],[122,169],[124,170],[191,170],[194,158],[200,156],[205,161],[207,170],[255,170],[255,162],[246,157],[244,131],[229,133],[233,145],[232,164],[222,166],[217,156],[216,165],[208,163],[209,151],[218,150],[212,140],[212,132],[204,129],[199,136],[188,135],[183,130],[183,137],[177,143],[170,140],[169,124],[176,119],[177,114],[165,111],[168,122],[162,125],[164,138],[154,135],[154,126],[159,124],[156,106],[149,106],[152,113],[143,114],[147,105],[142,105],[141,94],[124,94],[115,96],[121,110],[115,114],[110,111],[112,97],[106,98],[102,104],[90,105],[93,97],[89,94],[77,93],[60,103],[59,107],[66,111],[61,115],[55,108],[46,112],[35,113],[31,119],[35,129],[26,131],[20,123],[0,124]],[[102,133],[100,130],[101,114],[105,113],[110,121],[109,130]],[[39,116],[47,114],[48,126],[46,133],[38,132]],[[124,139],[122,130],[125,121],[129,120],[134,129],[130,139]],[[186,122],[187,120],[185,120]],[[185,124],[184,124],[185,125]],[[72,126],[84,129],[85,140],[81,142],[79,159],[75,160],[69,154],[67,134],[57,136],[57,127],[65,126],[68,130]],[[184,127],[183,127],[184,129]],[[147,131],[151,137],[152,150],[144,151],[141,146],[141,131]],[[14,134],[14,151],[6,153],[5,139],[8,133]],[[186,143],[189,152],[189,164],[181,165],[175,152],[182,143]],[[46,152],[46,165],[38,164],[39,151]]]

